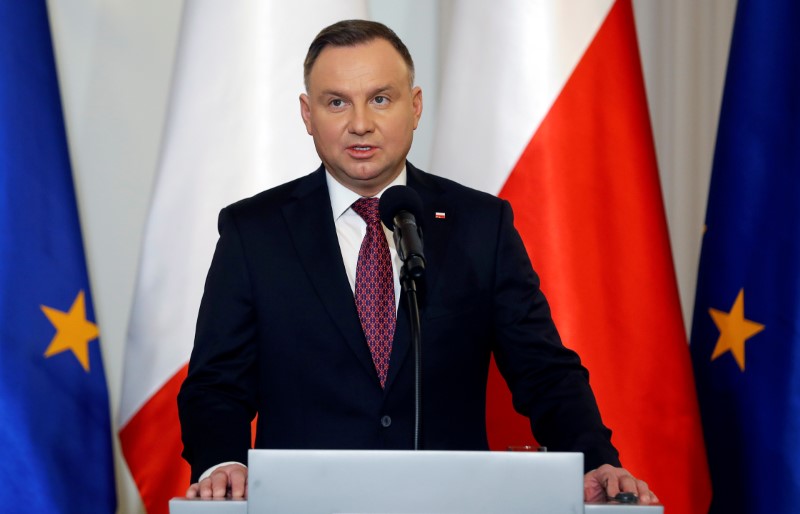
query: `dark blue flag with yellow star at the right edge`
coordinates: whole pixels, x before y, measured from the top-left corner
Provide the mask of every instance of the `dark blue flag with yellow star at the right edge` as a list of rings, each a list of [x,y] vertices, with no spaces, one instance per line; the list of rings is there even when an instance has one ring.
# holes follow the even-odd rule
[[[712,513],[800,511],[800,2],[740,0],[691,353]]]

